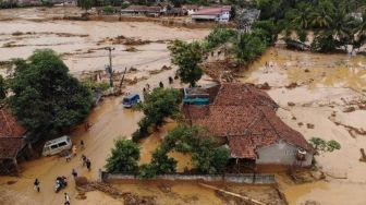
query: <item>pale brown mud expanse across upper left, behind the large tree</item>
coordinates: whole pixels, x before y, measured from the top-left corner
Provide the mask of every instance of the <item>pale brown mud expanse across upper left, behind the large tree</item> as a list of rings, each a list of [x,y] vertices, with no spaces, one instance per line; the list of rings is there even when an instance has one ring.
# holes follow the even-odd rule
[[[2,12],[8,11],[1,10],[0,16]],[[115,48],[112,52],[115,71],[133,67],[138,71],[134,75],[148,77],[149,71],[170,65],[167,49],[170,40],[198,39],[208,32],[148,22],[0,21],[0,61],[27,58],[35,49],[50,48],[62,56],[72,74],[80,75],[105,70],[109,63],[105,47],[112,46]],[[123,36],[123,44],[117,44],[119,36]],[[131,46],[134,52],[129,51]]]

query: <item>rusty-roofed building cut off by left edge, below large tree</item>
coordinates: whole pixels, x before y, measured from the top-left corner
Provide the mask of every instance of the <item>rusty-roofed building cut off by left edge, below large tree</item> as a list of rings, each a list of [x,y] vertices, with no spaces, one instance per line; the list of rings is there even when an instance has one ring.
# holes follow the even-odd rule
[[[0,173],[17,171],[17,159],[29,155],[25,129],[0,105]]]

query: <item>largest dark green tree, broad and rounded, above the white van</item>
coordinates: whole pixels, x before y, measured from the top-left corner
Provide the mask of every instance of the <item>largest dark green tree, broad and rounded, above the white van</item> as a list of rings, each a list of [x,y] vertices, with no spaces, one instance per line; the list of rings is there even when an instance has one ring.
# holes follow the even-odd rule
[[[36,50],[27,61],[14,61],[7,102],[30,132],[41,128],[60,132],[82,122],[91,108],[91,93],[69,74],[68,67],[50,49]],[[32,109],[29,109],[32,108]]]

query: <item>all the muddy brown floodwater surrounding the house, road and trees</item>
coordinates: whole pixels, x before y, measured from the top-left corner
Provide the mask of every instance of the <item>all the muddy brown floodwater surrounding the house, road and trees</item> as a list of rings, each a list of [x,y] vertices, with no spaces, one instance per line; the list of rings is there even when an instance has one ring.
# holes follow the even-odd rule
[[[205,37],[208,29],[187,29],[163,27],[142,22],[73,22],[51,21],[52,15],[77,14],[80,11],[52,9],[39,12],[38,9],[0,10],[0,61],[12,58],[26,58],[35,49],[51,48],[62,55],[70,72],[80,76],[83,72],[103,70],[108,63],[106,46],[113,46],[113,64],[117,71],[125,67],[134,67],[137,72],[126,77],[145,76],[126,89],[142,93],[146,83],[152,87],[160,81],[168,85],[168,76],[174,75],[176,68],[150,74],[162,65],[170,65],[168,40],[183,40]],[[35,21],[36,19],[36,21]],[[32,21],[29,21],[32,20]],[[123,35],[136,40],[152,43],[134,46],[137,51],[125,51],[124,44],[111,45],[107,37],[115,38]],[[266,62],[270,65],[265,67]],[[3,63],[0,63],[3,64]],[[366,148],[366,58],[364,56],[316,55],[309,52],[289,51],[282,48],[269,48],[240,79],[242,82],[269,83],[272,88],[268,94],[279,104],[278,114],[294,130],[300,131],[307,140],[319,136],[327,141],[340,142],[341,149],[332,153],[320,153],[316,156],[318,168],[327,177],[327,181],[306,184],[293,184],[278,177],[280,190],[284,192],[291,205],[316,201],[324,205],[366,204],[366,164],[359,162],[359,148]],[[0,73],[7,74],[0,68]],[[209,81],[205,80],[200,83]],[[296,83],[291,88],[285,86]],[[172,86],[181,87],[179,83]],[[136,130],[142,113],[123,109],[122,97],[105,99],[93,110],[88,121],[93,124],[88,132],[83,125],[75,128],[72,140],[78,143],[84,140],[86,149],[70,162],[63,158],[45,157],[32,161],[22,161],[23,171],[19,177],[0,177],[0,204],[62,204],[62,193],[53,192],[57,176],[71,179],[71,169],[76,168],[81,176],[90,180],[97,179],[97,170],[102,168],[119,137],[131,137]],[[289,106],[289,101],[295,106]],[[344,112],[345,108],[354,107],[355,111]],[[366,106],[366,105],[365,105]],[[306,124],[314,124],[309,128]],[[139,144],[142,147],[141,164],[148,162],[151,152],[159,146],[164,134],[174,126],[168,123],[160,132],[152,134]],[[88,172],[82,167],[80,156],[85,154],[91,160],[93,170]],[[191,156],[170,153],[180,160],[178,170],[190,168]],[[41,192],[33,190],[34,179],[41,182]],[[235,193],[280,205],[278,192],[271,186],[227,185],[224,189]],[[154,196],[159,204],[241,204],[196,183],[149,183],[115,184],[121,191],[139,195]],[[220,188],[221,188],[220,186]],[[121,204],[101,192],[89,192],[86,200],[75,200],[76,191],[71,179],[64,190],[72,196],[73,204]]]

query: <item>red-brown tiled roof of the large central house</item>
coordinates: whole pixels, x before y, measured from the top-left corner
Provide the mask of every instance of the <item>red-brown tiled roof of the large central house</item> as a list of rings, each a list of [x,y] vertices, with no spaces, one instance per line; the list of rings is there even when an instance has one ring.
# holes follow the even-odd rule
[[[249,84],[222,84],[213,104],[185,106],[193,124],[207,126],[212,136],[228,137],[232,157],[255,159],[256,149],[281,140],[313,150],[297,131],[276,116],[277,104]],[[188,111],[187,111],[188,110]]]

